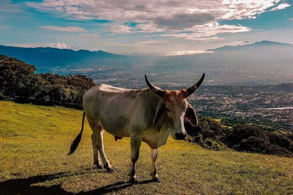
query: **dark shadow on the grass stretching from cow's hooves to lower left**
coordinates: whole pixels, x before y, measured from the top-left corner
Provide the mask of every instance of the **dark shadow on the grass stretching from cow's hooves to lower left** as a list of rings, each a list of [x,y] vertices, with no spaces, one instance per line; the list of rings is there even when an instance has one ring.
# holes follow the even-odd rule
[[[81,173],[84,174],[84,173]],[[34,184],[45,182],[48,180],[54,180],[61,177],[67,177],[69,173],[60,172],[52,175],[36,175],[28,178],[19,178],[19,179],[11,179],[6,180],[4,182],[0,182],[0,194],[74,194],[72,192],[65,191],[62,189],[61,185],[54,185],[50,187],[45,186],[35,186]],[[75,175],[79,175],[76,173]],[[153,182],[152,180],[145,180],[140,182],[140,184],[147,184]],[[116,182],[114,184],[110,184],[107,186],[103,186],[91,191],[81,191],[77,194],[86,195],[86,194],[106,194],[109,192],[119,191],[121,189],[128,188],[133,184],[128,182]]]

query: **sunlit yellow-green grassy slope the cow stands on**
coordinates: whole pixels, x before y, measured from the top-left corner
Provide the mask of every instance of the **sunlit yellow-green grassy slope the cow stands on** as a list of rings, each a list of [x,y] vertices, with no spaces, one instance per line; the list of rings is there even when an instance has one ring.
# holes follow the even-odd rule
[[[87,122],[79,148],[67,156],[82,111],[0,101],[0,194],[292,194],[293,160],[234,151],[208,151],[171,137],[159,149],[162,183],[149,176],[150,149],[142,144],[140,184],[127,183],[129,138],[105,133],[116,172],[93,169]]]

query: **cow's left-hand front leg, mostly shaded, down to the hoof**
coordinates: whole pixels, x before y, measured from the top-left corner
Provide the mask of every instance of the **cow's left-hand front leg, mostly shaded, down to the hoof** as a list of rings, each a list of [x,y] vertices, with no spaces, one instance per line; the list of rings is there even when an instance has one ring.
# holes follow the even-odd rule
[[[130,180],[129,182],[131,183],[138,183],[137,177],[136,177],[136,169],[135,169],[135,164],[139,156],[139,148],[140,145],[142,144],[142,139],[137,136],[130,137],[130,159],[131,159],[131,166],[129,170],[129,176]]]

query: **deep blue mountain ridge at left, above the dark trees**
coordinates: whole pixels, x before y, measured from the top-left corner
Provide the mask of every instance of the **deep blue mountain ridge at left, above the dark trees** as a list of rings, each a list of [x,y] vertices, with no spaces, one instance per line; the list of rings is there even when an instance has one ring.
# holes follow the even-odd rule
[[[117,65],[117,60],[127,58],[127,56],[111,54],[105,51],[88,51],[72,49],[57,49],[51,47],[13,47],[0,45],[0,54],[15,57],[29,64],[34,64],[38,70],[48,67],[82,67],[103,66],[106,61],[113,61]]]

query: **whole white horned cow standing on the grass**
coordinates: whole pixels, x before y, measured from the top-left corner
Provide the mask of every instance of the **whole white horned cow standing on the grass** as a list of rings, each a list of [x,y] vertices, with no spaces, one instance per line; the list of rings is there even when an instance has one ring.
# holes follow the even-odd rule
[[[93,155],[97,168],[106,168],[107,172],[114,172],[104,152],[103,133],[105,130],[112,134],[115,140],[130,137],[130,182],[137,182],[135,164],[142,141],[151,147],[152,179],[161,182],[156,171],[158,148],[166,144],[170,133],[174,139],[186,139],[184,118],[193,126],[197,126],[196,113],[187,103],[186,98],[200,86],[204,77],[205,73],[195,85],[188,89],[172,91],[155,87],[146,75],[145,80],[149,86],[147,89],[122,89],[106,84],[92,87],[84,94],[81,132],[72,142],[69,155],[79,144],[86,115],[93,130]]]

